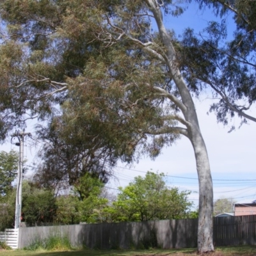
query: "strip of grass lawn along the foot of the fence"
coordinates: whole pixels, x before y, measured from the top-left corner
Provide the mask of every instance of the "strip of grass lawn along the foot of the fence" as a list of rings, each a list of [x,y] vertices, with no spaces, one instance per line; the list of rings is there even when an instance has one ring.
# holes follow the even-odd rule
[[[180,250],[77,250],[77,251],[26,251],[26,250],[2,250],[0,256],[196,256],[196,250],[180,249]],[[211,253],[211,256],[237,256],[256,255],[256,246],[225,246],[216,248],[216,252]]]

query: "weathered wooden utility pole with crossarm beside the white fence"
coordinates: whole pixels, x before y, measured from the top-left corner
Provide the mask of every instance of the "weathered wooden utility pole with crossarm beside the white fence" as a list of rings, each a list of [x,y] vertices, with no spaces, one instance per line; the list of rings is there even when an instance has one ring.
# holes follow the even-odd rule
[[[20,148],[19,150],[19,164],[17,175],[17,193],[16,193],[16,205],[15,205],[15,228],[20,227],[21,222],[21,200],[22,200],[22,174],[23,174],[23,156],[24,156],[24,137],[31,136],[30,132],[16,132],[12,137],[17,137],[19,142],[15,143]]]

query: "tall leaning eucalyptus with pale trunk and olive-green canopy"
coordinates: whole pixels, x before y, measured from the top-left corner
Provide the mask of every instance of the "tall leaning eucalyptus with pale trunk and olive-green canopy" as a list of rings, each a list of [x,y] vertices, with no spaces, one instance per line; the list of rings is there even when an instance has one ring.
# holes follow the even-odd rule
[[[207,149],[193,88],[180,70],[179,44],[163,22],[163,13],[178,15],[182,8],[170,0],[0,3],[8,28],[0,49],[3,136],[12,120],[52,116],[61,139],[88,152],[84,161],[107,152],[97,159],[105,165],[140,154],[154,158],[164,145],[186,136],[199,180],[198,252],[214,250]],[[85,141],[90,147],[80,147]]]

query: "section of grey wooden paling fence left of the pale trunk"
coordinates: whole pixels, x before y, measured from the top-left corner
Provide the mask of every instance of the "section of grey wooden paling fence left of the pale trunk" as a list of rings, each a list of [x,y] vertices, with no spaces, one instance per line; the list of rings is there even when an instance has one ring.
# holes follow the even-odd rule
[[[196,246],[196,232],[196,219],[28,227],[20,228],[19,248],[54,235],[87,248],[184,248]]]

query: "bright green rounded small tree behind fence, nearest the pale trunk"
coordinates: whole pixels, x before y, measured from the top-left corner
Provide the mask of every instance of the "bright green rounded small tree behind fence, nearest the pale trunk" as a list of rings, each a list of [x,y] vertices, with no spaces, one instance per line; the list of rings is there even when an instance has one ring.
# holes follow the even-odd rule
[[[129,186],[120,188],[113,203],[115,221],[171,220],[188,217],[191,202],[188,191],[168,188],[164,174],[147,172],[135,177]]]

